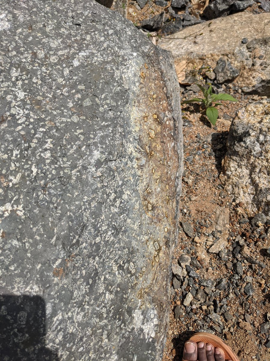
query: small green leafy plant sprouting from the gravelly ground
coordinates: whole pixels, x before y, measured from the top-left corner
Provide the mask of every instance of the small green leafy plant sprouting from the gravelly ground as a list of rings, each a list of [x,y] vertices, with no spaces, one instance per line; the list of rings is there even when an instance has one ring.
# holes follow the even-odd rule
[[[235,99],[233,96],[231,96],[229,94],[224,94],[224,93],[215,94],[215,93],[213,93],[211,85],[210,85],[210,87],[208,89],[202,87],[200,84],[196,84],[196,85],[203,92],[204,99],[203,98],[193,98],[193,99],[190,99],[190,100],[185,100],[181,104],[194,103],[196,101],[198,101],[199,103],[203,103],[205,108],[206,108],[206,116],[207,116],[208,120],[210,121],[210,123],[212,125],[216,124],[217,117],[219,116],[219,112],[216,109],[216,106],[222,105],[221,103],[216,103],[217,100],[238,101],[237,99]],[[212,106],[212,103],[215,103],[215,104]]]

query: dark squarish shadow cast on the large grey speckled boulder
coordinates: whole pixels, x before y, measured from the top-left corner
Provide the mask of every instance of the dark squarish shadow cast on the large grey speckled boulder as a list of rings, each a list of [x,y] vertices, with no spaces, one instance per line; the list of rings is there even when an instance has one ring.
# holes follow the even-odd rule
[[[45,347],[45,319],[42,297],[0,295],[0,360],[58,361]]]

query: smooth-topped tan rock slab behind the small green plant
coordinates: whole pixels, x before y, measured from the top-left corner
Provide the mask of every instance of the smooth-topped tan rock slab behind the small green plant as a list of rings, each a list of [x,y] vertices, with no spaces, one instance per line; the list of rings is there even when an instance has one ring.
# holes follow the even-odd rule
[[[269,24],[269,13],[237,13],[185,28],[158,40],[158,45],[172,52],[176,66],[187,61],[186,74],[203,65],[215,69],[222,58],[234,76],[219,75],[218,81],[228,79],[243,92],[270,96]],[[200,35],[194,39],[194,34]]]

